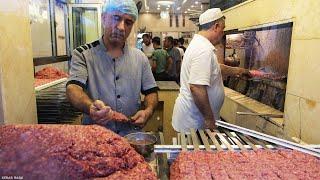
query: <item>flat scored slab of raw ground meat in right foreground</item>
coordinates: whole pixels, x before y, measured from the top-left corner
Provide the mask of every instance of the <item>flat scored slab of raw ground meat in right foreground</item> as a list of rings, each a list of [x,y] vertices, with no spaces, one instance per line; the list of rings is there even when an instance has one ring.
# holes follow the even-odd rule
[[[170,180],[320,179],[320,160],[298,151],[181,152]]]

